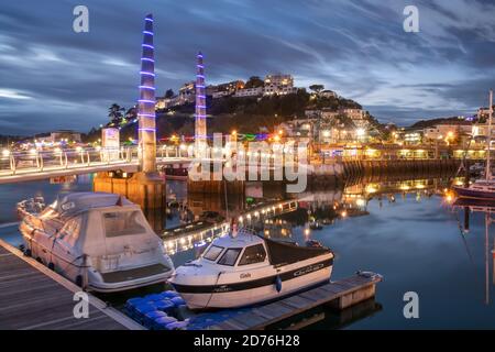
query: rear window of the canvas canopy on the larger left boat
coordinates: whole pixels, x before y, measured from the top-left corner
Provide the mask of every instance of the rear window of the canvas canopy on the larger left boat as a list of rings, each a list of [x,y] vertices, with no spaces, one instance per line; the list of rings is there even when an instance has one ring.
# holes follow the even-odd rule
[[[144,217],[138,210],[105,212],[103,223],[107,238],[146,232]]]

